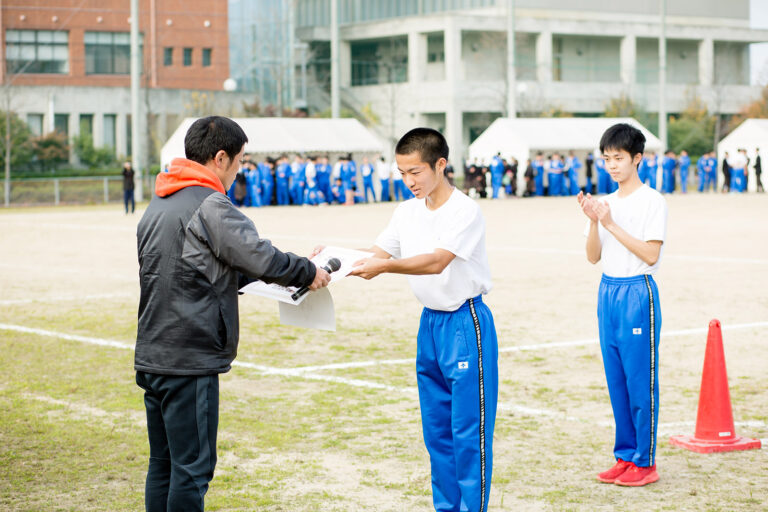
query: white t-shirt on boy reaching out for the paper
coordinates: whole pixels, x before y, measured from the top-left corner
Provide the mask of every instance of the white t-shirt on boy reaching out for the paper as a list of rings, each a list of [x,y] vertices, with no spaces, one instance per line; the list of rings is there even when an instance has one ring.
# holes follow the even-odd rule
[[[480,207],[454,189],[437,210],[424,199],[400,203],[376,245],[394,258],[445,249],[456,255],[440,274],[407,276],[416,298],[430,309],[455,311],[467,299],[492,288],[485,252],[485,219]]]

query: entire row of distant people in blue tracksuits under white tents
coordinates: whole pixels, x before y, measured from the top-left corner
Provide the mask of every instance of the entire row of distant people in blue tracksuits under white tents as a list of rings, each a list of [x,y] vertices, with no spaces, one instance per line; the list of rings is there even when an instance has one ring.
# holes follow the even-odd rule
[[[758,191],[763,190],[759,149],[755,159]],[[675,154],[667,150],[664,155],[648,151],[638,165],[643,183],[664,194],[676,191],[688,192],[691,181],[696,182],[699,192],[718,190],[718,172],[722,173],[723,192],[745,192],[750,159],[745,150],[725,158],[720,165],[714,151],[701,155],[692,169],[687,151]],[[518,162],[496,154],[489,162],[477,160],[464,166],[464,189],[473,196],[493,199],[516,196]],[[584,169],[584,172],[581,170]],[[693,174],[693,176],[692,176]],[[453,182],[453,168],[446,169],[446,176]],[[546,157],[542,152],[527,162],[524,174],[523,197],[574,196],[580,191],[591,194],[610,194],[617,184],[606,170],[600,156],[588,153],[584,162],[574,151],[567,156],[554,152]],[[307,157],[281,155],[267,157],[257,162],[246,156],[243,167],[228,191],[237,206],[285,206],[321,204],[357,204],[376,201],[402,201],[413,194],[405,186],[394,163],[383,157],[360,161],[351,154],[340,156],[331,165],[326,155]]]

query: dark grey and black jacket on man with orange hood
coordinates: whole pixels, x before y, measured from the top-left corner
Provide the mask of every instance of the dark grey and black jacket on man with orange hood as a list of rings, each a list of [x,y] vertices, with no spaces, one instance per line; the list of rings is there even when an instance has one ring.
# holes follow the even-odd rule
[[[137,237],[137,371],[229,371],[237,355],[238,289],[254,279],[308,286],[315,277],[313,263],[260,238],[226,195],[206,185],[153,197]]]

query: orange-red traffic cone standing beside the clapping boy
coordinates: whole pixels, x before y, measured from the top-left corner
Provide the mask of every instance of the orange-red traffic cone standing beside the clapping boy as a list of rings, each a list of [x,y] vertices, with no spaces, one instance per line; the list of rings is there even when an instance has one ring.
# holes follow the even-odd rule
[[[760,448],[759,439],[737,436],[733,427],[731,395],[728,391],[723,334],[719,320],[709,322],[707,352],[704,355],[704,371],[701,374],[699,412],[696,416],[696,434],[672,436],[669,441],[673,445],[699,453]]]

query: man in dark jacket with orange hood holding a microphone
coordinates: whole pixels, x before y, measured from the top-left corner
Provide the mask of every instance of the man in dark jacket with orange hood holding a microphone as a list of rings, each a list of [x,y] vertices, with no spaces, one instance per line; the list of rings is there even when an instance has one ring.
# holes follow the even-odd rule
[[[139,222],[136,383],[149,433],[147,511],[202,511],[216,466],[220,373],[237,354],[238,289],[255,279],[326,286],[307,258],[259,236],[226,196],[248,141],[225,117],[195,121]]]

